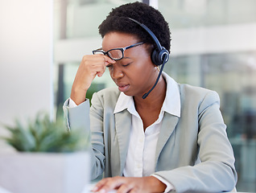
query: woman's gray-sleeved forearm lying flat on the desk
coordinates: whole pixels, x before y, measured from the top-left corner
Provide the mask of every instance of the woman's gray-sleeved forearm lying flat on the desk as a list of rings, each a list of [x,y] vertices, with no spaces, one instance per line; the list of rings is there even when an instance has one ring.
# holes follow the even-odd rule
[[[233,167],[221,162],[203,162],[196,166],[159,171],[155,175],[167,179],[177,192],[232,191],[237,181]]]

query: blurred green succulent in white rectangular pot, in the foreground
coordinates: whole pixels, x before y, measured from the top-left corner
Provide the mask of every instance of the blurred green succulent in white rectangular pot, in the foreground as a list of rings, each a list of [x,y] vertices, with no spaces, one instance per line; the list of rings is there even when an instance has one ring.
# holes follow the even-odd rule
[[[27,125],[4,126],[16,152],[0,154],[0,187],[12,193],[81,193],[89,183],[89,134],[39,113]]]

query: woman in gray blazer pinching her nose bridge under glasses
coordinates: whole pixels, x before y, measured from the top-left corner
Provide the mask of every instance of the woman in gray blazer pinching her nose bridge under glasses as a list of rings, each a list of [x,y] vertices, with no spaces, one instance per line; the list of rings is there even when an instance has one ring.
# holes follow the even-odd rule
[[[64,104],[70,129],[91,130],[92,179],[105,177],[93,191],[231,191],[237,174],[217,92],[159,76],[155,40],[130,18],[170,50],[158,10],[141,2],[115,8],[99,27],[101,49],[83,57]],[[118,88],[94,93],[89,107],[86,92],[106,68]]]

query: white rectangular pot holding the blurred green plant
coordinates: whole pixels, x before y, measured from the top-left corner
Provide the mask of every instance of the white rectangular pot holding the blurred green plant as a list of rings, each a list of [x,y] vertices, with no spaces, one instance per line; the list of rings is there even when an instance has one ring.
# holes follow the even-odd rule
[[[0,187],[12,193],[82,193],[89,153],[0,154]]]

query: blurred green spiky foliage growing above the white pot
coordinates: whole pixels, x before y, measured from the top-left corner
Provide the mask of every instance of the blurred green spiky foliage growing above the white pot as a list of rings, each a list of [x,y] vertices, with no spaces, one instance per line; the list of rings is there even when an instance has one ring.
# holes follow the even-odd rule
[[[27,126],[19,120],[14,123],[4,125],[10,137],[3,139],[18,151],[72,152],[89,146],[89,133],[78,128],[68,132],[63,118],[51,121],[47,113],[38,113],[34,121],[27,121]]]

